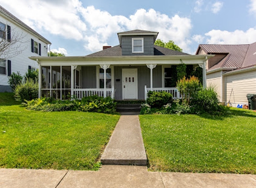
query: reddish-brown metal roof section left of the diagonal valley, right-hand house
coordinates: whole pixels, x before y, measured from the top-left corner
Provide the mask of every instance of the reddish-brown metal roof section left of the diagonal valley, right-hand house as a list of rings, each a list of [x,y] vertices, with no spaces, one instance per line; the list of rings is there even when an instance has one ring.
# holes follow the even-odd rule
[[[249,45],[199,45],[196,54],[198,54],[200,48],[208,54],[227,53],[226,57],[210,69],[229,67],[239,68],[243,65],[248,47]]]

